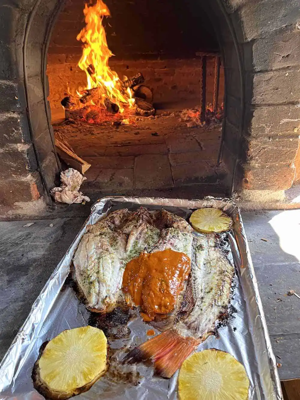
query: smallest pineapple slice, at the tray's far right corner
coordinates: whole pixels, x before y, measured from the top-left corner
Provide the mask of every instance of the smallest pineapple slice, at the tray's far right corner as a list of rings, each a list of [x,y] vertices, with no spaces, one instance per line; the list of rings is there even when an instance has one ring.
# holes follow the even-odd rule
[[[224,232],[232,227],[232,219],[218,208],[199,208],[190,216],[194,230],[202,233]]]

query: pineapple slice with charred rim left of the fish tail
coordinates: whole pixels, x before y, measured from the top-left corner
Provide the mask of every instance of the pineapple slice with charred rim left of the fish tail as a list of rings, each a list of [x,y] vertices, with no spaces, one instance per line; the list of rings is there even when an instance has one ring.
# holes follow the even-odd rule
[[[106,372],[107,339],[98,328],[64,330],[50,340],[34,364],[34,387],[47,399],[86,392]]]

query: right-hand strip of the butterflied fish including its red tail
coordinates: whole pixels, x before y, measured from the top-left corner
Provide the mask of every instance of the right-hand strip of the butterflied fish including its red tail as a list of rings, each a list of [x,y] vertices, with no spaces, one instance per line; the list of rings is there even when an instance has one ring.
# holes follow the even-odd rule
[[[228,312],[234,266],[220,245],[220,236],[194,237],[190,281],[176,324],[129,352],[124,362],[152,360],[156,372],[170,378],[189,354],[216,332]]]

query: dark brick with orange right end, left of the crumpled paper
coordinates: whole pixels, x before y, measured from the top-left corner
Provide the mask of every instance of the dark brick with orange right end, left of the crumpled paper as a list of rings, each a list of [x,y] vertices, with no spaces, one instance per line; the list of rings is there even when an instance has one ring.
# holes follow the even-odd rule
[[[40,192],[31,176],[28,179],[0,180],[0,204],[11,207],[16,202],[38,200]]]

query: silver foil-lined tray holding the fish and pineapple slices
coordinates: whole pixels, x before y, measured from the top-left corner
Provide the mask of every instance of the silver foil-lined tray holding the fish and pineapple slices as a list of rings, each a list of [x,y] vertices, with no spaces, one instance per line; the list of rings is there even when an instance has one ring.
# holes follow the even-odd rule
[[[217,348],[229,352],[240,361],[250,380],[248,400],[282,400],[276,361],[240,211],[231,200],[213,197],[203,200],[105,197],[96,202],[83,228],[34,302],[28,318],[0,364],[0,398],[43,399],[33,388],[31,380],[32,368],[38,358],[40,346],[65,329],[87,325],[90,316],[88,310],[79,302],[73,288],[67,283],[72,257],[86,226],[94,224],[116,209],[136,210],[141,205],[150,210],[163,207],[183,218],[188,218],[196,208],[216,207],[225,210],[232,217],[234,226],[229,234],[228,250],[236,268],[235,289],[231,300],[234,312],[227,324],[218,329],[218,338],[210,336],[199,345],[198,351]],[[146,332],[152,329],[152,326],[144,323],[138,316],[130,320],[128,327],[131,331],[128,338],[110,342],[116,366],[118,360],[124,356],[124,348],[146,341]],[[123,373],[122,368],[132,369]],[[177,376],[178,372],[169,380],[154,376],[153,368],[144,364],[122,366],[120,371],[114,370],[113,374],[108,372],[88,392],[76,398],[175,400],[178,398]]]

